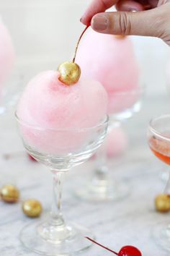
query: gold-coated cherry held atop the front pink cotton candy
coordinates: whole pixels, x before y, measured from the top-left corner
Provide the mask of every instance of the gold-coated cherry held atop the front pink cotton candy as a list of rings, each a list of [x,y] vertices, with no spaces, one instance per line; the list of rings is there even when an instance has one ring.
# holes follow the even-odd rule
[[[79,81],[81,76],[81,69],[78,64],[74,62],[64,62],[58,67],[60,76],[58,80],[63,82],[65,85],[74,85]]]

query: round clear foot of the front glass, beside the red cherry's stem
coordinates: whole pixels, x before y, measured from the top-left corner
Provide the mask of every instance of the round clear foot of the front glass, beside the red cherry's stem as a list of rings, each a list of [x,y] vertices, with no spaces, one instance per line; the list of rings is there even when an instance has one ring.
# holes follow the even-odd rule
[[[67,239],[62,240],[49,240],[44,239],[38,232],[43,223],[33,223],[25,226],[20,233],[20,241],[32,252],[40,255],[48,256],[69,256],[74,255],[76,252],[84,251],[91,247],[92,243],[85,238],[89,236],[94,238],[91,232],[76,224],[67,226],[69,235]]]

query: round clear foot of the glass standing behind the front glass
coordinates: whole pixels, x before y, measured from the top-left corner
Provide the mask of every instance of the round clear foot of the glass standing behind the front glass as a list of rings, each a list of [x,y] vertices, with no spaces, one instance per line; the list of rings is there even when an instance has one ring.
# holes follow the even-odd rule
[[[128,184],[115,184],[107,181],[91,182],[76,191],[76,196],[91,202],[122,200],[128,194]]]

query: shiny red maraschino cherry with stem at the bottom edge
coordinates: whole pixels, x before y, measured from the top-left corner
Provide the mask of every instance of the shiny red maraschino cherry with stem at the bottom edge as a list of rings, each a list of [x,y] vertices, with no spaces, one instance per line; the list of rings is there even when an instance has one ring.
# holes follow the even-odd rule
[[[107,249],[107,251],[112,252],[117,256],[142,256],[140,250],[136,247],[131,246],[131,245],[126,245],[125,247],[122,247],[122,249],[120,249],[120,252],[115,252],[112,249],[109,249],[109,248],[105,247],[104,245],[99,244],[98,242],[94,241],[93,239],[91,239],[87,236],[86,236],[86,239],[89,239],[94,244],[97,244],[100,247],[102,247],[104,249]]]

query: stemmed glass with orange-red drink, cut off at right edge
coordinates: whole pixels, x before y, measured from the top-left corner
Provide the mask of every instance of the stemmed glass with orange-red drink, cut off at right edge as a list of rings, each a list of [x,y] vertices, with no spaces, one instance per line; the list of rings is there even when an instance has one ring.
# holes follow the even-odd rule
[[[170,165],[170,114],[158,116],[150,121],[148,126],[148,145],[154,155],[167,165]],[[170,171],[169,180],[164,189],[165,194],[170,194]],[[156,224],[153,230],[156,241],[170,251],[170,223]]]

